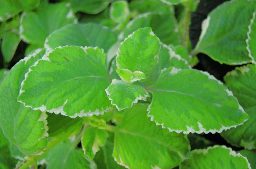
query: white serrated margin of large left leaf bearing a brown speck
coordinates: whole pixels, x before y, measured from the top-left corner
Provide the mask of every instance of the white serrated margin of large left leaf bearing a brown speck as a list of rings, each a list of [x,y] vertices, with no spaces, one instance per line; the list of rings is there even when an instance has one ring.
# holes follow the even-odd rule
[[[66,46],[59,46],[59,47],[56,47],[55,49],[57,49],[57,48],[58,48],[58,49],[62,49],[63,47],[69,47],[69,45],[66,45]],[[96,46],[96,47],[92,47],[92,46],[89,46],[89,47],[88,47],[88,46],[85,46],[85,47],[83,47],[83,46],[76,46],[76,47],[80,47],[81,49],[84,50],[85,53],[87,53],[87,49],[90,49],[90,48],[92,48],[92,49],[94,49],[94,50],[100,49],[98,46]],[[42,57],[42,59],[37,60],[37,61],[34,63],[34,65],[32,65],[31,67],[35,67],[35,66],[39,63],[40,60],[47,60],[47,61],[51,62],[51,60],[49,59],[49,54],[52,53],[55,49],[53,49],[53,50],[47,52],[46,54],[44,54],[44,56]],[[100,49],[100,50],[102,51],[102,53],[104,53],[104,50],[103,50],[103,49]],[[34,54],[34,53],[33,53],[33,54]],[[30,55],[29,55],[28,57],[31,58]],[[28,60],[28,59],[27,59],[27,60]],[[25,74],[25,79],[21,82],[21,88],[20,88],[20,94],[19,94],[19,96],[20,96],[23,92],[25,92],[25,90],[22,90],[22,88],[23,88],[24,82],[25,82],[26,79],[28,78],[28,74],[29,74],[30,72],[32,72],[31,67],[29,67],[28,72]],[[18,97],[19,97],[19,96],[18,96]],[[45,107],[45,105],[42,105],[41,107],[32,108],[30,105],[26,105],[26,103],[22,102],[21,100],[18,100],[18,102],[22,103],[25,107],[31,108],[31,109],[33,109],[33,110],[40,110],[40,111],[42,111],[42,112],[47,111],[47,112],[49,112],[49,113],[55,113],[56,115],[61,114],[61,115],[63,115],[63,116],[68,116],[68,115],[67,115],[67,112],[65,112],[65,111],[63,110],[65,104],[67,104],[67,102],[68,102],[68,99],[67,99],[67,100],[63,103],[63,105],[60,106],[59,108],[54,108],[54,109],[50,109],[50,110],[47,110],[46,107]],[[80,113],[75,113],[73,116],[69,116],[69,117],[71,117],[71,118],[76,118],[77,116],[79,116],[79,117],[83,117],[83,116],[90,116],[90,117],[91,117],[91,116],[93,116],[93,115],[99,116],[99,115],[103,115],[105,112],[108,112],[108,111],[111,111],[111,110],[112,110],[112,107],[111,107],[111,106],[110,106],[110,107],[106,107],[106,109],[103,109],[103,107],[101,107],[101,111],[100,111],[99,109],[95,109],[94,111],[91,111],[91,110],[90,110],[89,112],[84,113],[84,110],[81,110]]]

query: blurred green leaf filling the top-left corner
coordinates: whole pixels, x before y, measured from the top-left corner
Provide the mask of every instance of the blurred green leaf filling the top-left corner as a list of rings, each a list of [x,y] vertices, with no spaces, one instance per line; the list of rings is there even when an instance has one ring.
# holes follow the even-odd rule
[[[23,10],[33,10],[40,3],[40,0],[1,0],[0,1],[0,22],[3,22]]]

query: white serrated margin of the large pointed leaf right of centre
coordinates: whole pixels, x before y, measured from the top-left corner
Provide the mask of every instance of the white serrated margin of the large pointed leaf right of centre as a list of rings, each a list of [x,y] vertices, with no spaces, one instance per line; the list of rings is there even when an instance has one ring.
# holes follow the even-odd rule
[[[175,67],[173,67],[173,68],[175,68]],[[166,71],[166,70],[167,70],[167,68],[164,68],[163,70],[161,70],[161,74],[162,74],[164,71]],[[182,69],[177,69],[177,68],[176,68],[174,71],[171,71],[170,73],[171,73],[171,74],[177,74],[177,73],[180,72],[180,71],[182,71]],[[208,72],[204,72],[204,71],[201,71],[201,70],[197,70],[197,71],[199,71],[199,72],[205,74],[206,76],[208,76],[208,79],[217,81],[220,85],[223,85],[223,86],[224,86],[224,84],[223,84],[221,81],[217,80],[213,75],[209,74]],[[161,74],[160,74],[160,75],[161,75]],[[160,76],[159,76],[159,77],[160,77]],[[151,86],[152,86],[152,85],[151,85]],[[233,96],[233,97],[234,97],[232,91],[230,91],[227,87],[226,87],[225,91],[228,93],[229,96]],[[152,92],[151,92],[151,93],[152,93]],[[153,93],[152,93],[152,96],[153,96],[153,98],[154,98]],[[236,101],[237,101],[237,104],[238,104],[238,106],[239,106],[239,109],[240,109],[243,113],[245,113],[245,114],[248,116],[248,114],[244,111],[244,108],[239,104],[237,98],[236,98],[236,97],[234,97],[234,98],[235,98]],[[236,126],[242,125],[242,124],[244,124],[244,122],[246,122],[246,121],[248,120],[248,119],[245,119],[243,123],[240,123],[240,124],[237,124],[237,125],[232,125],[232,126],[223,126],[222,124],[220,124],[220,125],[221,125],[220,130],[216,130],[216,129],[206,130],[200,122],[197,122],[199,131],[194,130],[194,129],[193,129],[193,126],[192,126],[192,127],[189,127],[188,125],[186,126],[186,127],[187,127],[187,130],[186,130],[186,131],[185,131],[185,130],[174,130],[174,129],[171,129],[170,127],[164,127],[164,123],[161,123],[161,124],[160,124],[160,123],[158,123],[156,120],[154,120],[154,116],[153,116],[153,115],[150,115],[150,108],[151,108],[152,103],[153,103],[153,99],[152,99],[152,101],[151,101],[151,103],[149,104],[148,109],[147,109],[147,111],[148,111],[147,116],[150,117],[150,121],[155,122],[157,126],[158,126],[158,125],[161,125],[161,126],[162,126],[162,129],[168,129],[170,132],[175,131],[175,132],[177,132],[177,133],[181,133],[181,132],[182,132],[182,133],[184,133],[184,134],[189,134],[189,133],[201,134],[201,133],[203,133],[203,132],[204,132],[205,134],[208,134],[208,133],[214,134],[214,133],[216,133],[216,132],[217,132],[217,133],[221,133],[223,130],[229,130],[229,129],[231,129],[231,128],[236,128]]]

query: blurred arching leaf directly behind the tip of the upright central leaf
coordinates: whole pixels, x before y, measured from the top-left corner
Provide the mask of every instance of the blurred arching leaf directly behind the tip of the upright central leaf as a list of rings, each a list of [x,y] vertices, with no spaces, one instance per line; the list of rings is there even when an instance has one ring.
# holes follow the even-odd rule
[[[179,45],[180,35],[173,13],[147,12],[133,18],[120,33],[118,38],[123,40],[132,32],[142,27],[151,27],[156,36],[165,44]]]

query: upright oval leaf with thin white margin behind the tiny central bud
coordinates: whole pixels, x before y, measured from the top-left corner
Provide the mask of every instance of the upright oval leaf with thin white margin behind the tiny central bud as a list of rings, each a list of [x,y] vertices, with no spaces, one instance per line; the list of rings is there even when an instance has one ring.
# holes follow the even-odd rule
[[[125,38],[119,46],[116,54],[117,70],[128,69],[133,73],[140,71],[147,77],[158,62],[159,51],[159,39],[152,29],[140,28]],[[119,76],[125,79],[123,74]]]

